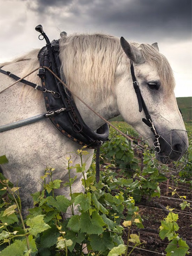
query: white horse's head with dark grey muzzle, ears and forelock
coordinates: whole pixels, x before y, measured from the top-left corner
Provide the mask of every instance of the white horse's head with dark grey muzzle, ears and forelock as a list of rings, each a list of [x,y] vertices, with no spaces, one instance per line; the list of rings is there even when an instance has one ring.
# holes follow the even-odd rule
[[[128,43],[123,37],[120,42],[125,53],[122,62],[124,68],[127,69],[127,75],[120,82],[121,89],[116,88],[119,111],[125,121],[147,139],[151,146],[156,146],[151,129],[142,123],[145,113],[144,111],[139,112],[138,99],[133,85],[130,85],[130,83],[132,84],[130,62],[133,62],[141,97],[152,118],[160,144],[156,158],[163,164],[178,161],[186,152],[189,143],[173,91],[175,80],[170,64],[159,53],[157,43],[139,45]],[[126,86],[127,93],[125,94]],[[127,103],[122,104],[125,101]]]

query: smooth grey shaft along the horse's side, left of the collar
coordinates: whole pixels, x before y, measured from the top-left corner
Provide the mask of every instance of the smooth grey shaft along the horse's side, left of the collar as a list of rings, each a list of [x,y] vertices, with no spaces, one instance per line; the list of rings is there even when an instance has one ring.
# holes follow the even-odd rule
[[[23,126],[23,125],[38,122],[38,121],[46,118],[45,114],[46,113],[43,113],[43,114],[40,114],[40,115],[37,115],[37,116],[34,116],[34,117],[30,117],[30,118],[27,118],[27,119],[24,119],[24,120],[20,120],[20,121],[11,123],[11,124],[2,125],[2,126],[0,126],[0,132],[8,131],[8,130],[11,130],[11,129],[14,129],[14,128],[17,128],[17,127],[20,127],[20,126]]]

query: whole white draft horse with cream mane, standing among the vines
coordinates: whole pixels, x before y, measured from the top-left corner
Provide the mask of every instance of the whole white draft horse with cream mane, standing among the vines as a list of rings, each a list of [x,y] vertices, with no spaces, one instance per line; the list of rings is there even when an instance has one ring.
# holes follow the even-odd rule
[[[164,162],[166,156],[178,160],[188,147],[185,126],[178,110],[173,92],[175,82],[170,64],[159,53],[157,43],[153,45],[128,43],[114,36],[71,35],[60,39],[61,71],[66,77],[69,88],[82,98],[105,119],[119,114],[125,122],[132,125],[141,136],[153,146],[154,135],[142,122],[144,112],[139,112],[138,100],[133,88],[130,61],[133,62],[141,94],[152,117],[156,130],[164,143],[157,159]],[[24,76],[39,67],[39,49],[1,64],[3,70],[17,76]],[[38,71],[25,78],[40,84]],[[4,74],[1,76],[1,89],[14,80]],[[76,106],[84,122],[97,130],[104,121],[74,97]],[[1,125],[36,116],[46,112],[41,92],[27,85],[17,83],[1,94]],[[30,194],[41,189],[38,180],[44,175],[46,166],[56,168],[54,179],[68,180],[67,156],[81,146],[62,135],[50,122],[40,122],[1,132],[0,155],[6,154],[9,162],[2,165],[3,174],[14,184],[21,187],[21,197],[25,209],[32,206]],[[93,150],[87,149],[89,154]],[[79,157],[71,154],[73,165],[80,163]],[[87,158],[87,156],[84,156]],[[83,159],[85,160],[85,158]],[[87,169],[91,164],[90,157]],[[72,192],[83,191],[82,173],[77,175]],[[61,187],[56,194],[69,196],[69,188]]]

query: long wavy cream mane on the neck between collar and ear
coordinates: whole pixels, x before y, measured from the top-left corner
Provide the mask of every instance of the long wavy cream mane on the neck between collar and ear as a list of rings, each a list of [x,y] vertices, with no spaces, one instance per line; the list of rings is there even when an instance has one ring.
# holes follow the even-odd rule
[[[60,40],[61,74],[73,90],[111,91],[119,56],[119,38],[103,34],[64,36]],[[87,90],[86,90],[87,91]],[[89,90],[90,91],[90,90]]]

